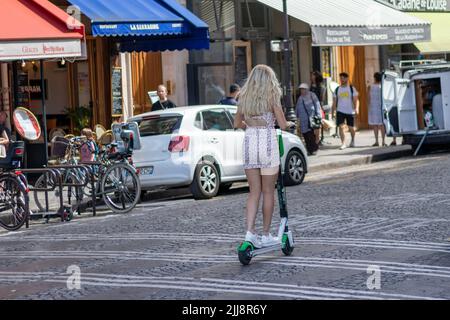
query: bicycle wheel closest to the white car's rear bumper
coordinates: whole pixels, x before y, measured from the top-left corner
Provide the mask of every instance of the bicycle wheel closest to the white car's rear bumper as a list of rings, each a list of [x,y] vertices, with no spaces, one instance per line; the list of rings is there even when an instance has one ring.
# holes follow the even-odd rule
[[[141,183],[136,170],[125,163],[112,165],[102,178],[101,193],[105,204],[112,211],[129,212],[141,195]]]

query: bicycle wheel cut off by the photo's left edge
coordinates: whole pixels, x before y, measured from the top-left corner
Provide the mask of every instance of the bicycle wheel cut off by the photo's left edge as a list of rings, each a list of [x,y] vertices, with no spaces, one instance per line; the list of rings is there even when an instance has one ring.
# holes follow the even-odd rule
[[[9,231],[20,229],[28,218],[28,194],[15,176],[0,177],[0,225]]]

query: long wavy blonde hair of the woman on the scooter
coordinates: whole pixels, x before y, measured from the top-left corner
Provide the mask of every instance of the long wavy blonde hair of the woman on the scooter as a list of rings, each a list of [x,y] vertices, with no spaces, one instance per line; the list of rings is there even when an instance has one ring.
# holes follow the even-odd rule
[[[264,64],[255,66],[239,94],[239,107],[246,118],[271,112],[280,105],[281,87],[275,72]]]

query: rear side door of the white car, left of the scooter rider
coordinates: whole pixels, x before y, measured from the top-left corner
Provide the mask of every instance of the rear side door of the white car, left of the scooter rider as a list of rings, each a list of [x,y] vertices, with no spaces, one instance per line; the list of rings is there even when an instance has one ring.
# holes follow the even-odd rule
[[[230,161],[228,152],[233,143],[230,135],[234,130],[225,108],[203,110],[202,128],[205,154],[213,156],[219,162],[222,177],[233,175],[233,162]]]

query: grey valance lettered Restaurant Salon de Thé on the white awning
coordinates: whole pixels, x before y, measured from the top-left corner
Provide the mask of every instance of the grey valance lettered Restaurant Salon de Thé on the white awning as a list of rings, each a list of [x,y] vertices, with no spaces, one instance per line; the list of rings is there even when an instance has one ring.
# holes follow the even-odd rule
[[[389,45],[431,41],[431,26],[314,27],[313,46]]]

